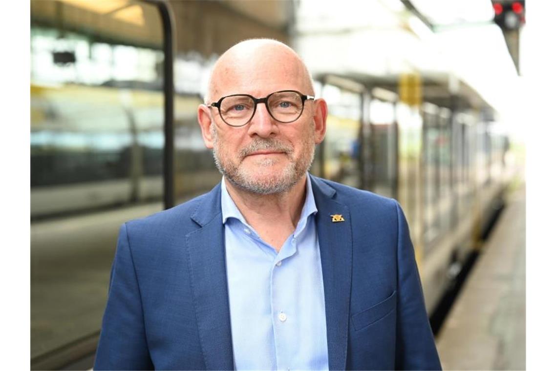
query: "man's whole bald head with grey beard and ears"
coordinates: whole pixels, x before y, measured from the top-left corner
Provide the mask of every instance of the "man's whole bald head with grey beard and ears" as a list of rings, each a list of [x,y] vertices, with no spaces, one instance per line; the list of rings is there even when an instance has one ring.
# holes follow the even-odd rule
[[[296,113],[287,118],[281,116],[279,110],[292,106],[290,98],[283,98],[282,94],[271,96],[267,105],[254,104],[247,98],[233,101],[232,106],[224,104],[228,100],[220,108],[211,106],[226,96],[246,94],[262,98],[285,90],[301,93],[301,96],[290,93],[292,99],[300,98],[295,103],[301,110],[298,118]],[[213,68],[206,104],[198,108],[203,140],[213,149],[217,167],[226,179],[257,194],[285,192],[300,181],[311,166],[315,145],[325,135],[326,103],[311,97],[306,100],[306,96],[313,95],[306,66],[285,44],[252,39],[226,51]],[[241,125],[243,121],[232,121],[229,117],[244,115],[253,108],[251,120],[251,115],[246,116],[246,125],[227,124]],[[294,121],[281,122],[291,121],[288,117]]]

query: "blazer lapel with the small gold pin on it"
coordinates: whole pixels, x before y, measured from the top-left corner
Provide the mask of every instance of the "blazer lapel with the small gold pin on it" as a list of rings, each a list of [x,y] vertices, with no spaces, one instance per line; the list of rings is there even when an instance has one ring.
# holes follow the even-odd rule
[[[352,232],[350,212],[346,205],[334,200],[336,191],[311,176],[315,204],[316,225],[323,270],[325,317],[329,369],[346,368],[348,325],[350,311],[350,283],[352,276]],[[333,218],[333,215],[341,215]],[[344,221],[336,221],[344,219]]]

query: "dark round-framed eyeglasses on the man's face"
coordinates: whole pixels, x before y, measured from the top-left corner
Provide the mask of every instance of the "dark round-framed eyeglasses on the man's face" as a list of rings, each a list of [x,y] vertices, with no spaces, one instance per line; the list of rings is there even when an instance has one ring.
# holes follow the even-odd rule
[[[217,107],[222,121],[230,126],[244,126],[253,118],[259,103],[265,103],[267,112],[278,122],[296,121],[304,111],[304,103],[315,97],[303,95],[295,90],[281,90],[265,98],[256,98],[249,94],[234,94],[222,97],[209,107]]]

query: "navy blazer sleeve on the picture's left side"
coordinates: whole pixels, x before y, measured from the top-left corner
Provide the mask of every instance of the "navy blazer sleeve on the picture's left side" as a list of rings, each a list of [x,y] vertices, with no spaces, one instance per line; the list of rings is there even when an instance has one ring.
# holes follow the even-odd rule
[[[145,337],[141,293],[126,225],[120,227],[102,318],[95,370],[154,369]]]

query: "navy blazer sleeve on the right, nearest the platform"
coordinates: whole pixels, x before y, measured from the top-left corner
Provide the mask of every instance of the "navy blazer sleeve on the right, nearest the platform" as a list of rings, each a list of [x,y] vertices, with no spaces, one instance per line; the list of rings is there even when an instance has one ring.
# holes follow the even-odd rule
[[[426,313],[408,222],[398,202],[397,214],[398,312],[395,368],[440,370],[441,363]]]

